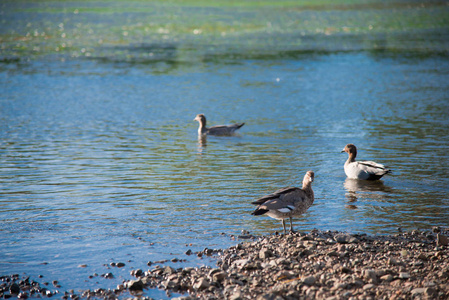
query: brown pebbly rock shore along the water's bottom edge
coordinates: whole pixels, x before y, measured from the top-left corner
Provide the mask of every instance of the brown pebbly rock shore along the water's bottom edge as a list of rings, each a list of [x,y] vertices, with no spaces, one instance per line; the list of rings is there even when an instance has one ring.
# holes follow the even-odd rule
[[[216,256],[217,267],[152,265],[133,270],[114,290],[65,292],[54,297],[129,298],[158,288],[182,299],[449,299],[448,232],[370,236],[313,230],[244,239]],[[39,284],[4,276],[0,296],[53,296]],[[72,291],[73,292],[73,291]],[[146,297],[140,297],[146,298]]]

